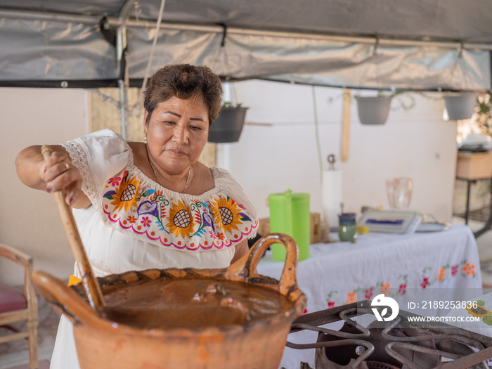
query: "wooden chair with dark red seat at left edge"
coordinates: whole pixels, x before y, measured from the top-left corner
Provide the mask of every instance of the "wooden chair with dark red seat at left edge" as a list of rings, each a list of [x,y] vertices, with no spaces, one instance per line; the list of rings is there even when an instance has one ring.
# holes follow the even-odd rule
[[[38,368],[37,358],[37,297],[32,283],[32,257],[13,247],[0,244],[0,257],[6,257],[24,267],[24,291],[0,282],[0,326],[12,333],[0,337],[0,344],[27,338],[30,369]],[[20,331],[12,323],[25,322],[27,331]]]

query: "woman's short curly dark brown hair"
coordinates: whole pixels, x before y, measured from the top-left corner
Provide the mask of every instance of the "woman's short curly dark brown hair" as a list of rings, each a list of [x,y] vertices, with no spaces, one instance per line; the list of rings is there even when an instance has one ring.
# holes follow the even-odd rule
[[[209,125],[219,116],[222,101],[222,83],[209,67],[190,64],[166,65],[154,73],[143,92],[143,107],[147,110],[148,124],[158,103],[176,97],[200,98],[207,106]]]

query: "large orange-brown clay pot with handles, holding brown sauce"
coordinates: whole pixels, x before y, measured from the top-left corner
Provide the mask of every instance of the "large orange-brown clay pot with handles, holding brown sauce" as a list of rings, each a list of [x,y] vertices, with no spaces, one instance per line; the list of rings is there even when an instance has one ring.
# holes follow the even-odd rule
[[[261,256],[273,243],[283,243],[287,248],[280,281],[259,276],[256,272]],[[53,308],[65,313],[74,324],[82,369],[275,369],[280,363],[290,325],[306,305],[306,297],[296,282],[297,259],[294,240],[273,233],[261,238],[245,257],[228,268],[150,269],[98,278],[103,295],[122,286],[141,285],[146,281],[213,278],[266,288],[283,295],[288,302],[287,309],[266,318],[200,329],[143,329],[116,323],[91,309],[80,284],[66,287],[61,280],[40,271],[34,272],[33,279]]]

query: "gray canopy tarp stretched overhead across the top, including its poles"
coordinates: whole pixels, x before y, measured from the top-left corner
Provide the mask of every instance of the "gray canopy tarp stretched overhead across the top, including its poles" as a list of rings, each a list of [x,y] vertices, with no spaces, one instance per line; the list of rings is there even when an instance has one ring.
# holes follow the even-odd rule
[[[138,86],[191,63],[229,79],[491,90],[489,0],[167,0],[153,48],[160,6],[0,0],[0,86]]]

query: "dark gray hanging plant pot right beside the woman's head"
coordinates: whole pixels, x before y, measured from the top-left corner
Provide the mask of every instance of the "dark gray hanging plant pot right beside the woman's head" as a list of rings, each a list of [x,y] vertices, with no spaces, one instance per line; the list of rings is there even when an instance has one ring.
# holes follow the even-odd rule
[[[247,108],[221,108],[219,117],[212,122],[209,142],[238,142],[245,124]]]

